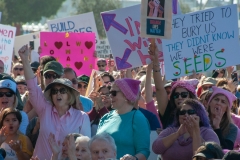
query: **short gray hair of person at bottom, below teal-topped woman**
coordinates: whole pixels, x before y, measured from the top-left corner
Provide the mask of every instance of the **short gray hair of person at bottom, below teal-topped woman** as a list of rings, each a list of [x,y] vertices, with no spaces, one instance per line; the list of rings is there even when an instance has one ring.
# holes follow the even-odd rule
[[[95,141],[95,140],[102,140],[102,141],[107,142],[108,144],[111,145],[112,149],[115,152],[117,152],[117,146],[116,146],[115,141],[112,138],[112,136],[110,136],[110,134],[108,134],[106,132],[103,132],[103,133],[100,133],[100,134],[97,134],[97,135],[93,136],[92,139],[88,142],[89,148],[92,145],[93,141]]]

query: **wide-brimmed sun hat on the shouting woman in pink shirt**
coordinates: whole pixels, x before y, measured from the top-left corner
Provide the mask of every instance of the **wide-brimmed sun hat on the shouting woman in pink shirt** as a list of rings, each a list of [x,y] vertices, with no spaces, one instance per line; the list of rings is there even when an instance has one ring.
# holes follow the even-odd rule
[[[71,82],[69,79],[66,79],[66,78],[58,78],[58,79],[55,79],[52,83],[50,83],[50,84],[46,87],[46,89],[44,90],[44,96],[45,96],[45,98],[46,98],[47,100],[51,100],[50,92],[51,92],[52,87],[53,87],[55,84],[64,85],[64,86],[66,86],[67,88],[72,89],[72,90],[74,91],[75,96],[78,96],[78,95],[79,95],[78,90],[76,90],[75,88],[72,87],[72,82]]]

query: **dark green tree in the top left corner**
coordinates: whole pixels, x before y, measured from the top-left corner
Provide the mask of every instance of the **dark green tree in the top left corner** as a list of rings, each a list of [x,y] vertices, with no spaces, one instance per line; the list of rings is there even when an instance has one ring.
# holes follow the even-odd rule
[[[0,0],[2,23],[34,22],[56,14],[64,0]]]

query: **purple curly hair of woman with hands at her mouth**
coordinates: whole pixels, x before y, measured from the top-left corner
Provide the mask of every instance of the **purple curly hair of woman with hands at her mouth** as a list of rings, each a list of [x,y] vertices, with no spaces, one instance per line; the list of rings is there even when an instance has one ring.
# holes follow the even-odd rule
[[[195,110],[196,115],[199,117],[199,127],[207,127],[207,128],[211,127],[205,107],[198,100],[190,99],[190,98],[184,100],[183,103],[181,104],[181,107],[177,109],[175,120],[173,122],[173,127],[180,126],[179,112],[183,105],[189,105],[192,107],[192,109]]]

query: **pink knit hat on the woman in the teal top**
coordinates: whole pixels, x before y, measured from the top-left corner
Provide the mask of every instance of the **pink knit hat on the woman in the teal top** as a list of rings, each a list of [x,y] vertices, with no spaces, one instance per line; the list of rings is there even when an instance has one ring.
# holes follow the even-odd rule
[[[136,101],[140,92],[140,83],[134,79],[123,78],[114,82],[129,101]]]

